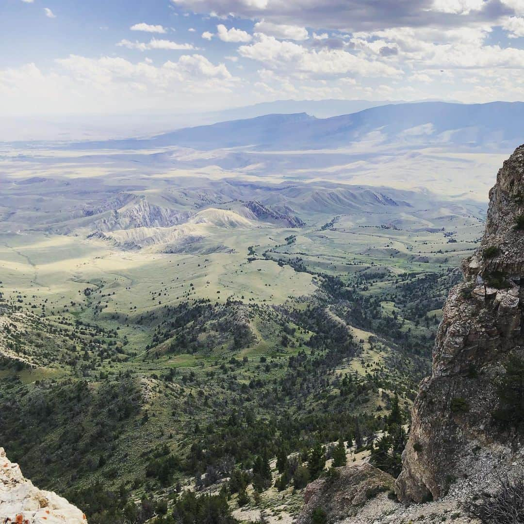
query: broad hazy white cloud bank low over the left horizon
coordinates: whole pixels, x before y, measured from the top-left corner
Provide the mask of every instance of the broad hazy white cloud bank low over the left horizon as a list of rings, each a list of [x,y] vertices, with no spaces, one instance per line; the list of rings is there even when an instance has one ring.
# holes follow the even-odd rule
[[[30,63],[0,69],[0,112],[67,113],[132,111],[136,107],[211,108],[226,104],[239,79],[223,63],[200,54],[184,55],[155,66],[119,57],[70,55],[43,72]]]

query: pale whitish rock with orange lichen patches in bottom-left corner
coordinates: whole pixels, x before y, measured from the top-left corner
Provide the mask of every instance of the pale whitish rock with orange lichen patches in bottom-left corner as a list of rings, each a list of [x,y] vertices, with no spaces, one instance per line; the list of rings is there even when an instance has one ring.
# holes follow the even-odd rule
[[[0,522],[2,524],[87,524],[85,515],[56,493],[42,491],[22,475],[0,447]]]

